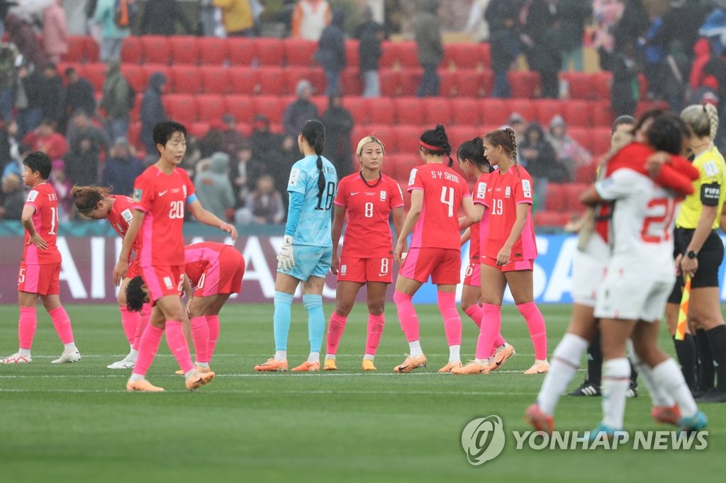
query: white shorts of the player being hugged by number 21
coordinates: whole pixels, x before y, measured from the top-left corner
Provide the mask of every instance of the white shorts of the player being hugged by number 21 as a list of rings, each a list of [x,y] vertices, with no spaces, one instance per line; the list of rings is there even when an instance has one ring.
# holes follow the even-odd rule
[[[584,250],[577,250],[572,263],[572,300],[586,307],[595,307],[597,289],[605,276],[610,247],[603,237],[594,233]]]

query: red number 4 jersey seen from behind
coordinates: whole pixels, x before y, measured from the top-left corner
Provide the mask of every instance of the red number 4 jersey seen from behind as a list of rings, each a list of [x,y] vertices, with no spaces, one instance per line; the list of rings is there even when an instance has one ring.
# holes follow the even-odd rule
[[[461,249],[459,207],[470,197],[462,176],[440,162],[411,170],[408,191],[423,191],[423,210],[413,228],[411,247]]]

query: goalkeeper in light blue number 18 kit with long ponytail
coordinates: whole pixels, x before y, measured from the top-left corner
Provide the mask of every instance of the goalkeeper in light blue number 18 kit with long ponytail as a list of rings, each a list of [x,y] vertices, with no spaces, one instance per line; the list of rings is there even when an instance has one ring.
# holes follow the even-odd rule
[[[290,332],[290,309],[293,294],[303,282],[303,304],[308,311],[310,355],[293,371],[319,371],[320,348],[325,332],[322,311],[322,289],[333,260],[330,237],[330,210],[338,187],[338,174],[333,164],[322,156],[325,126],[309,120],[298,134],[298,148],[303,159],[290,170],[287,191],[285,237],[277,255],[277,279],[274,292],[274,358],[255,366],[255,371],[287,371],[287,334]]]

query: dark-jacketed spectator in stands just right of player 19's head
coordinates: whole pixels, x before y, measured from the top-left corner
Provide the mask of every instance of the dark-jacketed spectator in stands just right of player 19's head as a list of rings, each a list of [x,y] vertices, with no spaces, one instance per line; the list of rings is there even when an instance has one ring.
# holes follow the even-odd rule
[[[547,185],[566,183],[569,173],[564,165],[560,165],[552,144],[544,139],[539,123],[531,123],[524,133],[524,140],[517,146],[517,157],[534,181],[534,202],[542,208],[547,202]]]

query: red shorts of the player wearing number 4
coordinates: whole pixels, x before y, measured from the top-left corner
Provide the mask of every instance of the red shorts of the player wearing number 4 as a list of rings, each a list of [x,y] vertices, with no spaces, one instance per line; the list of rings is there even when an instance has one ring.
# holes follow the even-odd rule
[[[461,281],[461,252],[449,248],[411,248],[401,276],[424,284],[431,276],[436,285],[456,285]]]

